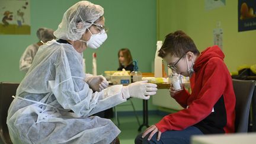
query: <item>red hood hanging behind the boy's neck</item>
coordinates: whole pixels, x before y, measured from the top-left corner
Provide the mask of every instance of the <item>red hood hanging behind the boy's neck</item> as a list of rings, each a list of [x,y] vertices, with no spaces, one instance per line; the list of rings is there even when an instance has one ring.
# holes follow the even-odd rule
[[[211,59],[212,57],[219,57],[220,59],[223,60],[225,55],[222,52],[222,50],[219,48],[219,46],[207,47],[207,49],[201,52],[201,55],[197,58],[193,66],[194,71],[197,71],[198,69],[200,69],[201,66],[203,66],[204,63],[208,62],[208,60]]]

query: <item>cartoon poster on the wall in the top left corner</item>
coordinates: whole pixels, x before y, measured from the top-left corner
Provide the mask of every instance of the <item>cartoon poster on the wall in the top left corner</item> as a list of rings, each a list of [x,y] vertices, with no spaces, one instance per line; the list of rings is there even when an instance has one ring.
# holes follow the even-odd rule
[[[0,34],[30,34],[30,0],[0,0]]]

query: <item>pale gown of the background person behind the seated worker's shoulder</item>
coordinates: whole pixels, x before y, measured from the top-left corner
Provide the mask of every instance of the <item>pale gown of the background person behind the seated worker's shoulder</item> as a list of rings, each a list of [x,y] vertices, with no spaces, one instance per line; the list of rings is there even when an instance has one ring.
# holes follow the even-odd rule
[[[20,58],[20,71],[28,71],[33,62],[34,56],[36,56],[38,49],[39,45],[37,45],[37,43],[31,44],[25,49],[23,55]]]

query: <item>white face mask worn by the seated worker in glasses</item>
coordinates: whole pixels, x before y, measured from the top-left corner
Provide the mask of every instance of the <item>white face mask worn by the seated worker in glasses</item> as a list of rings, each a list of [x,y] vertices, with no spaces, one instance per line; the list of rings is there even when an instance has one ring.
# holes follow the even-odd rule
[[[91,33],[89,29],[88,31],[89,33]],[[87,43],[87,47],[90,47],[92,49],[98,49],[98,47],[100,47],[105,40],[107,40],[107,34],[105,33],[105,30],[103,30],[101,33],[98,33],[98,34],[91,33],[91,38],[88,41],[84,41],[84,40],[80,40],[80,41],[84,41],[85,43]]]

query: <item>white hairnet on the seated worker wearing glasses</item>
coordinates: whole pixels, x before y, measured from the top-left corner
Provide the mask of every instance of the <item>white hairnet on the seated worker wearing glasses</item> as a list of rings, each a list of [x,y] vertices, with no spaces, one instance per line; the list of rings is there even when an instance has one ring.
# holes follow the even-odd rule
[[[65,12],[54,35],[57,39],[79,40],[85,30],[103,14],[104,9],[100,5],[88,1],[77,2]]]

